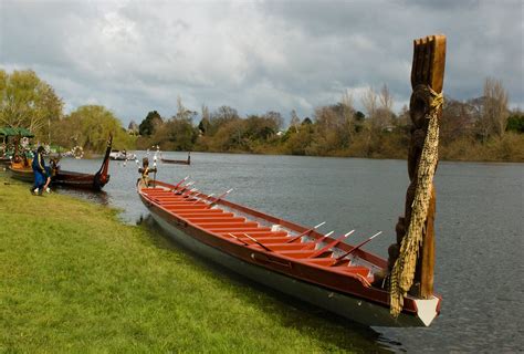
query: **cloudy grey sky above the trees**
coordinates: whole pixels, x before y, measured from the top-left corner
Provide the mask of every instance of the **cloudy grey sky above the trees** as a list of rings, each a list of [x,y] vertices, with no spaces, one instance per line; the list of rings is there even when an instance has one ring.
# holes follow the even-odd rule
[[[412,40],[448,35],[444,91],[480,96],[503,81],[524,108],[522,0],[0,0],[0,67],[32,69],[66,111],[102,104],[125,124],[195,111],[311,116],[345,90],[359,104],[386,83],[410,95]]]

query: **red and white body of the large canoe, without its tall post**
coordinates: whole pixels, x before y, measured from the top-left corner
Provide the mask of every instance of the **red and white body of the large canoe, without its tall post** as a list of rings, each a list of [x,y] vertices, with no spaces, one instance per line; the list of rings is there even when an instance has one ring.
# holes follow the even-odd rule
[[[389,292],[371,285],[387,261],[316,230],[156,181],[138,185],[154,219],[206,259],[300,300],[374,326],[425,326],[438,315],[440,299],[408,295],[397,319]],[[180,185],[180,184],[179,184]]]

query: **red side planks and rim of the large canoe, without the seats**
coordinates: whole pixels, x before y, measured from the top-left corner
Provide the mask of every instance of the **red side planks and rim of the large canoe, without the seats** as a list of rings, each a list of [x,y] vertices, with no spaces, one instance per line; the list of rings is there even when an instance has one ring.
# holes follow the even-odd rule
[[[156,186],[164,187],[167,189],[175,189],[175,186],[161,181],[156,181]],[[160,188],[156,189],[158,189],[159,191],[161,190]],[[316,287],[322,287],[331,291],[336,291],[348,296],[361,299],[364,301],[375,303],[382,308],[389,308],[389,293],[385,290],[371,287],[369,281],[359,273],[345,272],[335,268],[326,269],[326,267],[322,264],[315,264],[314,262],[308,262],[307,260],[301,260],[297,258],[286,257],[285,254],[270,252],[255,244],[245,246],[233,238],[226,237],[218,232],[211,232],[209,230],[206,230],[201,226],[187,220],[186,218],[188,218],[188,216],[185,216],[184,218],[179,217],[177,215],[177,210],[166,208],[161,204],[161,198],[155,198],[153,194],[148,195],[147,190],[148,189],[142,190],[139,187],[137,188],[142,201],[146,205],[150,212],[157,215],[157,217],[161,218],[165,222],[171,225],[176,229],[181,230],[185,235],[196,239],[199,242],[212,247],[213,249],[220,252],[224,252],[229,256],[235,257],[242,260],[243,262],[258,267],[263,267],[268,270],[281,273],[285,277],[307,282]],[[151,189],[149,189],[149,191]],[[200,196],[205,197],[203,195]],[[180,198],[180,196],[178,197]],[[213,199],[210,198],[210,200]],[[308,230],[307,228],[293,223],[291,221],[282,220],[243,206],[238,206],[227,200],[218,200],[217,206],[227,206],[231,209],[240,210],[245,214],[253,215],[254,217],[269,220],[270,222],[286,226],[295,232],[304,232]],[[198,209],[192,210],[195,210],[195,212],[198,212]],[[230,210],[224,210],[224,212],[229,211]],[[322,236],[316,231],[311,232],[311,235],[316,235],[316,237]],[[342,244],[340,247],[347,248],[348,250],[353,248],[349,244]],[[378,259],[379,261],[381,261],[378,262],[378,264],[386,264],[385,260],[363,250],[358,250],[358,256],[363,259],[367,258],[368,260]],[[317,279],[322,281],[317,281]],[[416,299],[410,298],[406,299],[404,314],[417,316],[417,305],[415,303],[415,300]]]

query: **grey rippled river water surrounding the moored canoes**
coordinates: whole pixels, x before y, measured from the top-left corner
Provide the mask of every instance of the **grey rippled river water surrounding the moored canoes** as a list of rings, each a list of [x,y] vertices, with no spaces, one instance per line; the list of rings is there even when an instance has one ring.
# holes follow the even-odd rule
[[[234,188],[228,199],[305,226],[326,221],[323,232],[356,229],[352,243],[381,230],[365,248],[384,258],[408,186],[404,160],[193,153],[191,163],[159,164],[157,179],[190,176],[207,194]],[[64,169],[80,171],[98,166],[99,160],[62,162]],[[137,178],[135,163],[112,162],[104,192],[83,197],[120,208],[122,219],[134,223],[147,216],[134,189]],[[367,336],[364,352],[524,348],[523,178],[523,164],[440,163],[434,289],[443,298],[441,315],[428,329],[377,327],[373,335],[346,325],[348,335]]]

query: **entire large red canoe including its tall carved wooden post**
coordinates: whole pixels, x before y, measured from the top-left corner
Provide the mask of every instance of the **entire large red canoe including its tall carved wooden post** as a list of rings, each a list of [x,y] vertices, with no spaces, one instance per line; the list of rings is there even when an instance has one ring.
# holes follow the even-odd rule
[[[154,183],[147,168],[137,185],[153,218],[189,249],[274,288],[371,326],[428,326],[440,313],[433,292],[439,121],[442,116],[446,35],[413,41],[405,214],[388,260],[314,228],[211,197],[193,183]],[[210,171],[212,173],[212,171]],[[198,191],[198,192],[197,192]]]

